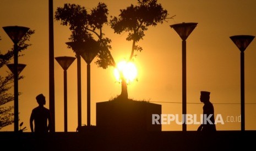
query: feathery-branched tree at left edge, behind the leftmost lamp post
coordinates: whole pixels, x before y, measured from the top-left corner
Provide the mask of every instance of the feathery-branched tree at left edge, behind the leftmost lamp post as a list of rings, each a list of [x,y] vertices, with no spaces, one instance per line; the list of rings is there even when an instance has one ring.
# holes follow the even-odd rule
[[[31,44],[28,44],[26,42],[30,40],[31,35],[34,33],[34,30],[29,30],[28,32],[26,32],[25,36],[20,40],[20,42],[18,43],[18,51],[20,53],[22,53],[25,49],[28,49],[28,47],[31,46]],[[13,58],[13,50],[13,48],[11,50],[8,50],[6,54],[2,54],[0,51],[0,68],[2,68],[4,65],[7,65]],[[19,56],[23,56],[23,54],[20,54]],[[13,74],[10,72],[7,73],[8,74],[6,76],[0,75],[0,129],[14,123],[14,107],[3,107],[4,104],[14,100],[14,95],[8,92],[13,87]],[[23,78],[24,76],[19,76],[18,79]],[[20,94],[21,93],[19,92],[18,95]]]

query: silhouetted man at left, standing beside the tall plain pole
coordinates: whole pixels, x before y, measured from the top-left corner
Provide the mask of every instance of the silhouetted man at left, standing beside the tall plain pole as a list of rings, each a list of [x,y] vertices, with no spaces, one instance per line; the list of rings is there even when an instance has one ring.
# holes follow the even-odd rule
[[[32,110],[30,116],[31,132],[40,134],[47,133],[50,130],[52,124],[50,110],[43,107],[43,105],[46,103],[45,96],[43,96],[43,94],[37,95],[36,101],[39,106]],[[33,121],[35,127],[33,127]]]

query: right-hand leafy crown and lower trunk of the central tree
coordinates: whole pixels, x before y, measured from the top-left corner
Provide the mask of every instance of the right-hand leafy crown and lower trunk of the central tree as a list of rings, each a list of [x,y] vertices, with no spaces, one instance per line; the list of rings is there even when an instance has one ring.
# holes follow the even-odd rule
[[[132,51],[130,53],[129,61],[134,57],[134,51],[142,51],[136,43],[143,39],[145,31],[149,26],[156,26],[162,24],[167,19],[167,10],[162,8],[162,5],[157,3],[157,0],[138,0],[138,5],[131,4],[126,9],[121,9],[118,17],[112,17],[110,20],[111,28],[115,33],[121,34],[128,32],[126,40],[132,41]],[[127,83],[121,74],[122,92],[120,97],[127,99]]]

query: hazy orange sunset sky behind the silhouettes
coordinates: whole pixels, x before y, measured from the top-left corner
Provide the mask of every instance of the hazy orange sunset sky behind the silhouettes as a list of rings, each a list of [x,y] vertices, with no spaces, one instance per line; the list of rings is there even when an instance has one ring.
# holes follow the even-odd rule
[[[64,3],[83,5],[88,11],[97,3],[107,4],[109,16],[117,16],[137,1],[53,1],[54,11]],[[170,27],[181,22],[198,22],[198,26],[187,39],[187,114],[203,113],[200,91],[210,91],[215,115],[221,114],[225,124],[217,124],[217,130],[240,130],[237,121],[227,122],[230,117],[240,115],[240,51],[229,38],[248,34],[256,36],[254,0],[162,0],[158,1],[167,9],[173,19],[162,25],[150,27],[138,45],[143,47],[137,53],[138,82],[128,85],[128,96],[134,100],[150,101],[162,105],[162,114],[182,114],[182,53],[181,38]],[[31,36],[32,46],[19,57],[19,63],[27,66],[19,80],[20,121],[29,129],[29,117],[37,106],[35,97],[43,93],[48,108],[48,1],[2,0],[0,5],[0,26],[25,26],[35,30]],[[128,58],[132,42],[127,34],[115,34],[109,26],[104,27],[106,37],[112,39],[111,53],[116,62]],[[75,56],[67,49],[70,31],[67,26],[54,22],[55,56]],[[4,54],[13,43],[4,30],[0,29],[0,50]],[[245,59],[245,109],[246,130],[255,130],[256,123],[256,39],[244,52]],[[95,61],[95,60],[94,60]],[[113,68],[98,68],[91,63],[91,124],[96,125],[96,102],[108,101],[121,93],[121,84],[113,75]],[[5,75],[8,68],[0,69]],[[77,60],[68,68],[68,131],[77,128]],[[81,60],[82,83],[82,124],[86,124],[86,63]],[[13,89],[10,90],[13,93]],[[64,131],[63,69],[55,61],[55,115],[56,131]],[[219,103],[219,104],[218,104]],[[12,105],[13,102],[8,105]],[[229,118],[229,119],[228,119]],[[187,130],[197,130],[199,125],[188,125]],[[180,131],[182,125],[163,125],[164,131]],[[13,125],[1,131],[13,131]]]

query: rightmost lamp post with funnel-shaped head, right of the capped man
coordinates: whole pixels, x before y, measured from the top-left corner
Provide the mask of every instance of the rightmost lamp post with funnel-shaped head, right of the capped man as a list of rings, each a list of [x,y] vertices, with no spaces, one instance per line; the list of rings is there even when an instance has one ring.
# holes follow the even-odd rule
[[[238,49],[241,51],[241,131],[245,130],[245,120],[244,120],[244,51],[252,42],[255,36],[250,35],[237,35],[237,36],[231,36],[230,39],[233,41],[233,43],[236,44]]]

